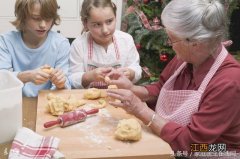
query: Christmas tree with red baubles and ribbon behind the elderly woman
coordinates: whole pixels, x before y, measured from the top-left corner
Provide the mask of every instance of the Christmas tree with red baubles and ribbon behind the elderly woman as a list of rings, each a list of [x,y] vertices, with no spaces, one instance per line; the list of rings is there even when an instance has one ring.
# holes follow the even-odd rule
[[[168,2],[170,0],[125,0],[121,29],[133,36],[147,82],[157,80],[175,55],[161,23],[161,12]],[[230,17],[238,1],[222,0],[222,3]]]

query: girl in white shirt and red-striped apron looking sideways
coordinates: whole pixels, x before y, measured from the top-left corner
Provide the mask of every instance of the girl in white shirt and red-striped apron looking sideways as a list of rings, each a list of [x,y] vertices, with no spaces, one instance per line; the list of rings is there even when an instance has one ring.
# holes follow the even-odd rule
[[[142,73],[139,54],[132,37],[115,30],[115,4],[111,0],[84,0],[81,18],[83,34],[73,41],[70,50],[71,85],[101,87],[104,84],[95,81],[102,81],[112,69],[137,82]]]

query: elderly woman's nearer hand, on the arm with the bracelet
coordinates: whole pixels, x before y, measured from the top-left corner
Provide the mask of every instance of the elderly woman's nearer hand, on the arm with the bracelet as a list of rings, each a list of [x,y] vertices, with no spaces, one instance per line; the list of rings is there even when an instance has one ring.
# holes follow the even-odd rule
[[[125,109],[128,113],[139,116],[142,109],[144,108],[144,103],[139,99],[132,91],[126,89],[108,89],[107,95],[111,98],[118,99],[120,102],[109,101],[109,104],[121,107]]]

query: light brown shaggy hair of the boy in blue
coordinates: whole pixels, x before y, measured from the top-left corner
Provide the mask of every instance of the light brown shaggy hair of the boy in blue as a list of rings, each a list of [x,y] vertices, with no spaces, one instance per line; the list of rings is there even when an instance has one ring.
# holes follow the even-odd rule
[[[14,12],[16,20],[11,23],[17,30],[23,30],[25,21],[28,16],[31,16],[33,5],[36,3],[39,3],[41,6],[40,14],[43,19],[53,19],[53,24],[60,24],[60,16],[57,13],[58,4],[56,0],[16,0]]]

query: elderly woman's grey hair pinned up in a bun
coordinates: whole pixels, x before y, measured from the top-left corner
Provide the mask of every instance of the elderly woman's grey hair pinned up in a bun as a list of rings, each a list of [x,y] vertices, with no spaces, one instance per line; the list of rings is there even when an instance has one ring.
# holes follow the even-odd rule
[[[183,39],[219,41],[226,34],[225,9],[218,0],[172,0],[161,18],[166,29]]]

